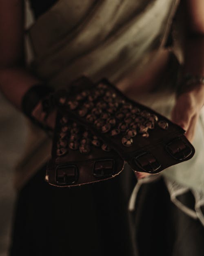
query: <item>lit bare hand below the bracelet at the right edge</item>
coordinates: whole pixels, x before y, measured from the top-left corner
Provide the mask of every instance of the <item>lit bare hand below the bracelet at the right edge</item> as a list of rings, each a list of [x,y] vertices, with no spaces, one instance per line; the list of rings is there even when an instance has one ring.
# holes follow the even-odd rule
[[[193,141],[200,110],[204,105],[204,84],[197,84],[179,95],[172,110],[172,121],[180,125],[189,141]]]

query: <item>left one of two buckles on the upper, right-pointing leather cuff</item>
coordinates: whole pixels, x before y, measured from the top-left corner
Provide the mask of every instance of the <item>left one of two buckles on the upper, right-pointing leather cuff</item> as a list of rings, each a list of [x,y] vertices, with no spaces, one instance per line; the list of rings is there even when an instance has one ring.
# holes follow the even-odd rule
[[[144,152],[136,156],[134,160],[135,160],[135,163],[144,172],[154,173],[161,167],[161,164],[158,163],[157,159],[155,159],[155,157],[148,152]]]

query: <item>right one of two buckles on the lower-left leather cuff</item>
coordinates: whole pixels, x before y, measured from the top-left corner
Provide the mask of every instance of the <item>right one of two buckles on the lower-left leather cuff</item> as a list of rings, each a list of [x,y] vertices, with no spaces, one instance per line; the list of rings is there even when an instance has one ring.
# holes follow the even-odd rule
[[[107,177],[114,174],[115,162],[113,159],[104,159],[95,161],[93,166],[93,176]]]

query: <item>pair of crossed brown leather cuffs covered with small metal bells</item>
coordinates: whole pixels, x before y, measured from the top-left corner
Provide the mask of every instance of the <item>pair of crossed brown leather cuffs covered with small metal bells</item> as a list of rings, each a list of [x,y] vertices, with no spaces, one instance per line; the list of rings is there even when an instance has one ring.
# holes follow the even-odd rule
[[[122,170],[119,159],[129,163],[135,172],[156,174],[190,159],[195,152],[183,129],[129,100],[106,79],[89,83],[89,88],[80,93],[60,97],[59,105],[58,123],[68,117],[72,126],[69,122],[56,126],[60,128],[55,131],[53,157],[47,170],[47,181],[53,185],[73,186],[114,177]],[[78,125],[85,130],[77,129]],[[86,131],[91,132],[87,138]],[[104,156],[101,150],[108,154]],[[86,157],[78,164],[80,154]],[[89,156],[91,166],[85,168],[89,179],[87,176],[83,182],[81,170]]]

